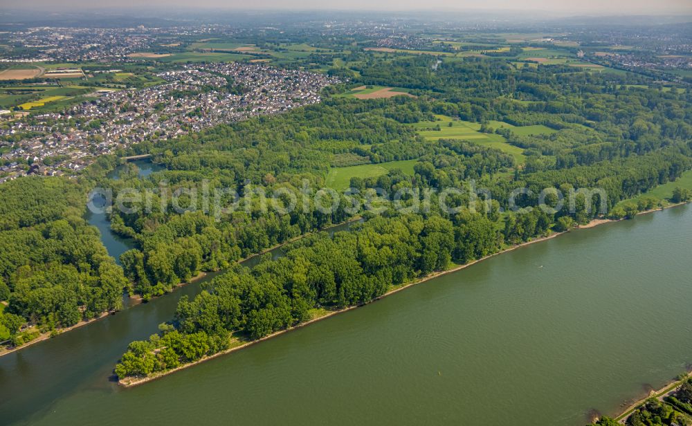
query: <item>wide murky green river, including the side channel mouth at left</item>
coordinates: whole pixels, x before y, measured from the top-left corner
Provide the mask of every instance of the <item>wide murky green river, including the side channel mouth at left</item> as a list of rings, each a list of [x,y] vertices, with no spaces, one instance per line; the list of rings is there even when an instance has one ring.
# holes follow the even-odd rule
[[[102,230],[103,232],[103,230]],[[692,206],[500,254],[143,386],[109,381],[183,294],[0,358],[0,423],[588,423],[692,362]]]

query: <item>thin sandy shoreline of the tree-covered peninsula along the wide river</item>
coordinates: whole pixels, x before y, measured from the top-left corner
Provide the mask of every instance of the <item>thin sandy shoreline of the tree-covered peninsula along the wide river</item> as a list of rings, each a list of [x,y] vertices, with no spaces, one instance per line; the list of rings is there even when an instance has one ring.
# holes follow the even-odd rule
[[[685,203],[677,203],[677,204],[674,204],[674,205],[672,205],[672,204],[671,204],[671,205],[666,205],[666,206],[664,206],[664,207],[659,207],[659,208],[656,208],[656,209],[653,209],[653,210],[647,210],[647,211],[645,211],[645,212],[639,212],[638,214],[646,214],[646,213],[656,212],[656,211],[664,210],[664,209],[667,209],[667,208],[670,208],[670,207],[676,207],[676,206],[682,205],[682,204],[685,204]],[[616,220],[616,219],[594,219],[594,220],[590,221],[590,223],[588,223],[588,224],[586,224],[586,225],[581,225],[581,226],[579,226],[579,227],[577,227],[577,228],[575,228],[575,229],[588,229],[588,228],[594,228],[594,227],[596,227],[596,226],[598,226],[598,225],[603,225],[603,224],[605,224],[605,223],[611,223],[611,222],[617,222],[617,221],[621,221],[621,220],[623,220],[623,219],[617,219],[617,220]],[[177,367],[176,369],[172,369],[172,370],[168,370],[168,371],[161,371],[161,372],[159,372],[159,373],[154,373],[154,374],[149,375],[149,376],[146,376],[146,377],[125,378],[125,379],[122,379],[122,380],[118,380],[118,384],[121,385],[122,387],[134,387],[134,386],[138,386],[138,385],[143,385],[143,384],[146,383],[146,382],[149,382],[149,381],[152,381],[152,380],[156,380],[156,379],[162,378],[162,377],[164,377],[164,376],[168,376],[168,375],[170,375],[170,374],[172,374],[172,373],[174,373],[174,372],[176,372],[176,371],[180,371],[180,370],[182,370],[182,369],[187,369],[187,368],[189,368],[189,367],[193,367],[194,365],[201,364],[202,362],[206,362],[206,361],[208,361],[208,360],[212,360],[212,359],[217,358],[217,357],[219,357],[219,356],[221,356],[221,355],[226,355],[226,354],[228,354],[228,353],[232,353],[232,352],[235,352],[235,351],[239,351],[240,349],[244,349],[244,348],[246,348],[246,347],[248,347],[248,346],[251,346],[251,345],[253,345],[253,344],[257,344],[257,343],[262,342],[262,341],[264,341],[264,340],[271,339],[272,337],[276,337],[276,336],[278,336],[278,335],[282,335],[282,334],[284,334],[284,333],[288,333],[289,331],[293,331],[293,330],[295,330],[296,328],[301,328],[301,327],[307,326],[307,325],[309,325],[309,324],[313,324],[314,322],[318,322],[318,321],[320,321],[320,320],[325,320],[325,319],[327,319],[327,318],[329,318],[329,317],[331,317],[331,316],[333,316],[333,315],[337,315],[337,314],[339,314],[339,313],[344,313],[344,312],[347,312],[347,311],[351,311],[351,310],[354,309],[354,308],[358,308],[358,307],[360,307],[360,306],[365,306],[365,305],[370,304],[370,303],[372,303],[372,302],[376,302],[376,301],[379,300],[379,299],[383,299],[384,297],[388,297],[388,296],[390,296],[390,295],[393,295],[394,293],[398,293],[399,291],[404,290],[404,289],[406,289],[406,288],[409,288],[410,286],[415,286],[416,284],[420,284],[420,283],[423,283],[423,282],[425,282],[425,281],[429,281],[430,279],[434,279],[434,278],[437,278],[437,277],[441,277],[442,275],[448,275],[448,274],[450,274],[450,273],[452,273],[452,272],[457,272],[457,271],[462,270],[462,269],[464,269],[464,268],[468,268],[469,266],[475,265],[475,263],[479,263],[479,262],[484,261],[484,260],[486,260],[486,259],[490,259],[491,257],[495,257],[495,256],[497,256],[498,254],[502,254],[502,253],[506,253],[506,252],[511,252],[512,250],[517,250],[518,248],[522,248],[522,247],[525,247],[525,246],[529,246],[530,244],[539,243],[539,242],[541,242],[541,241],[546,241],[546,240],[549,240],[549,239],[553,239],[553,238],[556,238],[556,237],[558,237],[558,236],[560,236],[560,235],[562,235],[562,234],[565,234],[565,233],[567,233],[567,232],[570,232],[570,230],[567,230],[567,231],[565,231],[565,232],[554,232],[554,233],[552,233],[552,234],[547,235],[546,237],[539,237],[539,238],[533,239],[533,240],[531,240],[531,241],[527,241],[527,242],[525,242],[525,243],[520,243],[520,244],[517,244],[517,245],[515,245],[515,246],[511,246],[511,247],[508,247],[508,248],[504,248],[503,250],[500,250],[500,251],[495,252],[495,253],[493,253],[493,254],[489,254],[488,256],[482,257],[481,259],[476,259],[475,261],[471,261],[471,262],[469,262],[469,263],[464,263],[464,265],[456,265],[456,266],[453,266],[452,268],[449,268],[449,269],[444,270],[444,271],[433,272],[432,274],[426,275],[425,277],[421,277],[421,278],[416,279],[416,280],[414,280],[414,281],[411,281],[411,282],[409,282],[409,283],[401,284],[401,285],[399,285],[399,286],[396,286],[396,287],[394,287],[394,288],[391,288],[390,290],[387,291],[387,293],[381,295],[380,297],[377,297],[376,299],[373,299],[373,300],[370,301],[370,302],[366,302],[365,304],[360,304],[360,305],[356,305],[356,306],[349,306],[349,307],[347,307],[347,308],[343,308],[343,309],[340,309],[340,310],[338,310],[338,311],[328,311],[327,313],[324,313],[323,315],[317,315],[316,317],[313,317],[311,320],[309,320],[309,321],[307,321],[307,322],[303,322],[303,323],[301,323],[301,324],[297,324],[297,325],[295,325],[295,326],[293,326],[293,327],[286,328],[286,329],[284,329],[284,330],[276,331],[275,333],[272,333],[272,334],[270,334],[270,335],[267,335],[267,336],[265,336],[265,337],[262,337],[262,338],[259,339],[259,340],[253,340],[253,341],[251,341],[251,342],[244,342],[244,343],[237,344],[236,346],[233,346],[233,347],[231,347],[231,348],[229,348],[229,349],[226,349],[226,350],[224,350],[224,351],[215,353],[215,354],[213,354],[213,355],[205,356],[205,357],[203,357],[203,358],[201,358],[201,359],[199,359],[199,360],[197,360],[197,361],[189,362],[188,364],[181,365],[180,367]]]

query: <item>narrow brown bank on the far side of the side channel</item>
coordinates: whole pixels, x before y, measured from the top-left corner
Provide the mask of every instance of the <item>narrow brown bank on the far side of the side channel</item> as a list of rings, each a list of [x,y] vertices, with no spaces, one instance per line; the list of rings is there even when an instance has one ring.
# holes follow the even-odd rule
[[[289,240],[284,241],[283,243],[279,243],[279,244],[276,244],[275,246],[272,246],[270,248],[266,248],[266,249],[262,250],[261,252],[251,254],[250,256],[245,257],[244,259],[239,259],[236,262],[237,263],[244,263],[250,259],[254,259],[255,257],[259,257],[259,256],[262,256],[263,254],[266,254],[268,252],[276,250],[277,248],[281,248],[283,246],[286,246],[286,244],[293,243],[293,242],[298,241],[298,240],[305,238],[305,237],[309,237],[310,235],[314,234],[315,232],[327,232],[331,229],[338,228],[339,226],[343,226],[343,225],[347,225],[349,223],[355,223],[355,222],[361,221],[362,219],[363,218],[361,216],[355,216],[352,219],[349,219],[349,220],[341,222],[341,223],[334,223],[332,225],[327,226],[326,228],[322,228],[321,230],[308,232],[307,234],[298,235],[297,237],[293,237]],[[173,288],[170,290],[170,292],[167,292],[161,296],[156,296],[156,297],[163,297],[167,294],[173,293],[175,290],[177,290],[183,286],[187,286],[188,284],[194,284],[195,282],[199,281],[200,279],[203,279],[204,277],[206,277],[210,273],[218,273],[218,272],[221,272],[221,271],[201,272],[198,275],[195,275],[194,277],[188,279],[187,281],[183,281],[179,284],[176,284],[175,286],[173,286]],[[144,298],[141,297],[140,295],[129,295],[127,297],[127,299],[129,299],[129,304],[127,305],[127,307],[123,307],[122,310],[132,308],[133,306],[137,306],[138,304],[142,304],[145,302]],[[36,337],[35,339],[30,340],[29,342],[26,342],[25,344],[22,344],[20,346],[15,346],[15,347],[10,348],[10,349],[3,346],[0,348],[0,357],[2,357],[4,355],[8,355],[12,352],[19,351],[20,349],[27,348],[28,346],[31,346],[32,344],[43,342],[44,340],[48,340],[51,337],[56,337],[57,335],[61,335],[62,333],[66,333],[68,331],[74,330],[75,328],[80,328],[82,326],[86,326],[88,324],[91,324],[92,322],[102,320],[103,318],[107,317],[108,315],[115,315],[116,313],[118,313],[122,310],[106,311],[104,313],[101,313],[98,317],[94,317],[94,318],[91,318],[90,320],[86,320],[86,321],[80,321],[73,326],[64,327],[64,328],[56,328],[55,331],[47,331],[46,333],[40,333],[38,335],[38,337]]]

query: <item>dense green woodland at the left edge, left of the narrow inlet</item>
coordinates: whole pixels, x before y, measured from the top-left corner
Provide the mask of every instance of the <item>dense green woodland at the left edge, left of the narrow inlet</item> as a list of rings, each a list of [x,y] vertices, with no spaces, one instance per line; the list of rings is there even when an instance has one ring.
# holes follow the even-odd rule
[[[122,305],[127,280],[84,220],[86,188],[62,178],[0,185],[0,341],[72,326]]]

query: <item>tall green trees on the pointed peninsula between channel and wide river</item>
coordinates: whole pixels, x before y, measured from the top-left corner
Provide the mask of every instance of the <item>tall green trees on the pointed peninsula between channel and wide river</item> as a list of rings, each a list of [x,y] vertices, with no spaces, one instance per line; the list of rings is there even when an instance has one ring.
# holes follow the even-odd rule
[[[386,217],[385,217],[386,216]],[[284,257],[252,270],[236,266],[191,302],[181,300],[162,335],[133,342],[116,366],[119,378],[147,376],[228,347],[230,333],[257,339],[313,316],[313,310],[369,302],[392,286],[500,249],[502,232],[483,214],[397,215],[293,243]],[[531,238],[548,232],[534,228]]]

